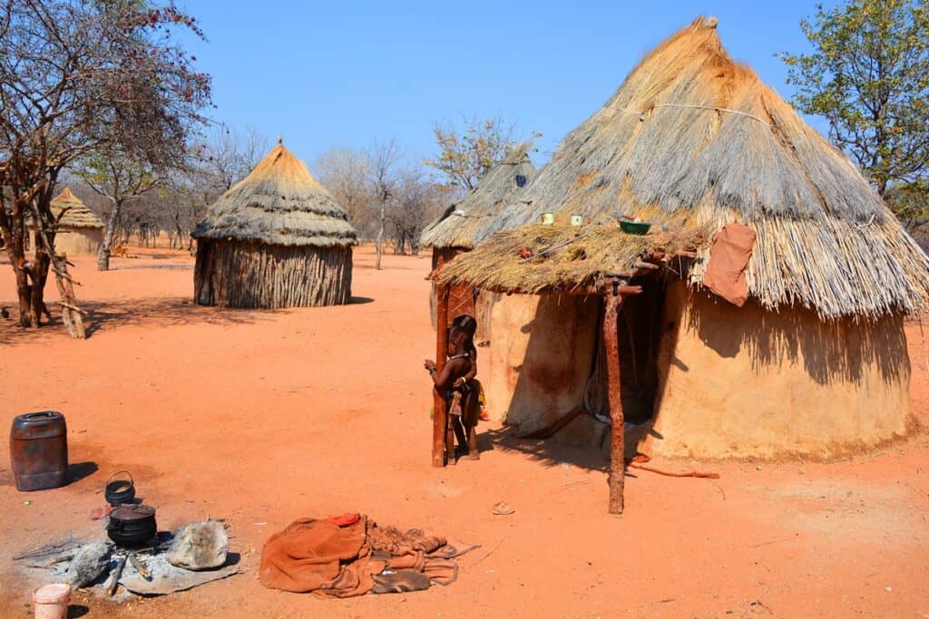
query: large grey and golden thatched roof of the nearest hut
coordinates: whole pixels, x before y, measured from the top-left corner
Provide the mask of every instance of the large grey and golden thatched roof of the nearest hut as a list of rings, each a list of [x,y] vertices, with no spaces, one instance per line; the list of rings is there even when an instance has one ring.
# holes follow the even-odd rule
[[[851,161],[729,58],[714,19],[695,20],[648,54],[519,198],[494,226],[546,212],[595,223],[628,213],[678,231],[752,226],[749,291],[769,309],[880,316],[929,304],[926,255]],[[526,243],[535,234],[519,233]],[[489,272],[520,260],[493,251],[478,246],[441,278],[490,284]],[[700,284],[708,256],[704,245],[683,274],[691,283]]]

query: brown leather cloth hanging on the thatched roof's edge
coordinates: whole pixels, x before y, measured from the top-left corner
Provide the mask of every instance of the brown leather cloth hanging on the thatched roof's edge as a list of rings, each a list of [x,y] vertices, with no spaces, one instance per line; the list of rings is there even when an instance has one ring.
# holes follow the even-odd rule
[[[710,264],[703,285],[729,303],[741,307],[749,298],[745,268],[754,247],[755,232],[743,224],[727,224],[713,236]]]

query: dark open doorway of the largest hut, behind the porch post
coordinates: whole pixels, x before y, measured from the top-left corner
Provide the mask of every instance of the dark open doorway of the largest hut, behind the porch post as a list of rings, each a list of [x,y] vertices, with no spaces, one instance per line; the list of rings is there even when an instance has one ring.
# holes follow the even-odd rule
[[[642,286],[642,293],[623,298],[617,316],[616,333],[623,418],[627,423],[641,425],[655,413],[666,285],[658,277],[644,277],[642,281],[636,280],[635,285]],[[606,420],[609,419],[607,353],[602,330],[598,330],[597,340],[596,358],[584,396],[584,407],[595,417]]]

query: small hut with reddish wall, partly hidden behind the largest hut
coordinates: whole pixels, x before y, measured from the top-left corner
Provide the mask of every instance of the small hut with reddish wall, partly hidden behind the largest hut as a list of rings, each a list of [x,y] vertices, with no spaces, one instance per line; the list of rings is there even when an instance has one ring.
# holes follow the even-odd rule
[[[496,231],[491,230],[495,217],[535,177],[535,166],[529,157],[530,146],[530,142],[524,142],[511,148],[504,160],[480,179],[478,187],[469,191],[462,200],[451,204],[436,221],[425,227],[420,236],[420,245],[432,248],[433,272],[450,263],[458,254],[473,250],[478,237]],[[467,284],[451,287],[450,319],[461,314],[477,316],[478,337],[489,337],[490,312],[495,296],[491,293],[482,295],[478,289]],[[430,307],[432,324],[435,326],[435,286],[430,295]]]

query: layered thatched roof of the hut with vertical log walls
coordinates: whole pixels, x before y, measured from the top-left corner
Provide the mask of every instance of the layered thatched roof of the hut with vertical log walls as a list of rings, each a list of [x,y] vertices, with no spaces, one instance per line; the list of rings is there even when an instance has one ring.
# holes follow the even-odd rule
[[[281,143],[211,206],[195,239],[254,240],[269,245],[355,245],[348,215]]]

